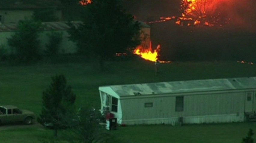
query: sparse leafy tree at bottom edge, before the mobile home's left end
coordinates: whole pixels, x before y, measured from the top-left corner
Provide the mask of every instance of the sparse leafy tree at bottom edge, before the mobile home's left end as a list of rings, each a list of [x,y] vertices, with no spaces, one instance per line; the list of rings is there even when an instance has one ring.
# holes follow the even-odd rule
[[[99,125],[100,113],[92,107],[81,107],[65,117],[72,131],[66,136],[68,142],[103,142],[107,134]],[[67,114],[66,114],[67,115]]]

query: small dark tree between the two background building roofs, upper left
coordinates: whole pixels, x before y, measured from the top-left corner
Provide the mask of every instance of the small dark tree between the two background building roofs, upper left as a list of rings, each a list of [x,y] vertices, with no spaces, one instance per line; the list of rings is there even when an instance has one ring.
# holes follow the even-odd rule
[[[58,16],[56,16],[56,10],[53,8],[35,10],[32,18],[35,21],[42,22],[59,21]]]

